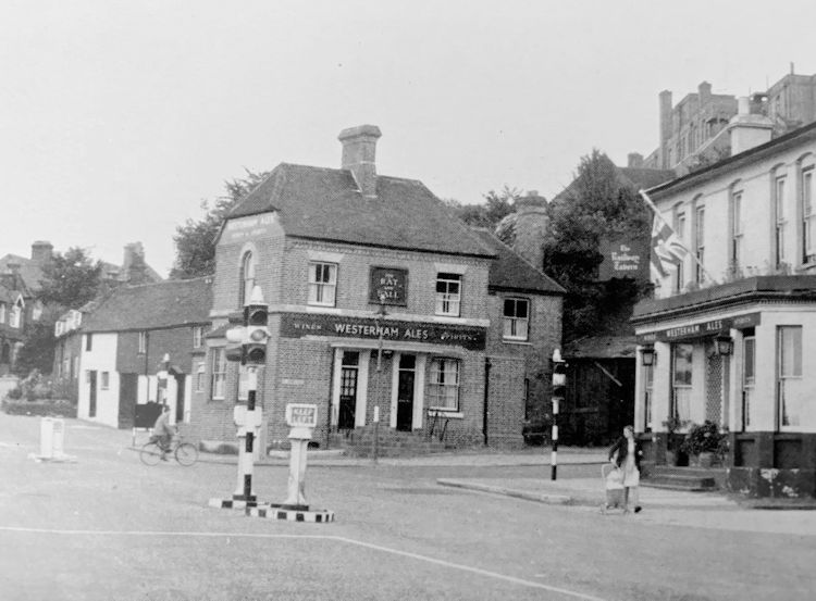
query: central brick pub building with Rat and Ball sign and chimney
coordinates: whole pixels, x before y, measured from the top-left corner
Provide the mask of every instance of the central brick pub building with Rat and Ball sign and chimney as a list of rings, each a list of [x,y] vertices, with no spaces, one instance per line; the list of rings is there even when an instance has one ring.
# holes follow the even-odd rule
[[[342,168],[279,165],[225,220],[217,246],[207,386],[194,423],[234,442],[244,372],[225,360],[227,320],[254,286],[271,338],[259,377],[261,448],[287,445],[287,403],[316,403],[314,439],[381,431],[452,446],[522,443],[549,391],[562,290],[453,217],[420,181],[376,174],[379,128],[344,130]]]

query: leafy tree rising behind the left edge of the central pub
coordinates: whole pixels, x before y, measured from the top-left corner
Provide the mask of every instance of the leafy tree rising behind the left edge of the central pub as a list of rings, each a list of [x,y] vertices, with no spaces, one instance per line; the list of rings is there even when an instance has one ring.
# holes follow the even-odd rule
[[[268,172],[244,171],[245,177],[224,183],[224,196],[218,197],[213,202],[201,203],[203,217],[198,221],[188,218],[184,225],[176,227],[173,236],[176,260],[170,272],[172,279],[189,279],[215,272],[215,236],[224,217],[269,175]]]

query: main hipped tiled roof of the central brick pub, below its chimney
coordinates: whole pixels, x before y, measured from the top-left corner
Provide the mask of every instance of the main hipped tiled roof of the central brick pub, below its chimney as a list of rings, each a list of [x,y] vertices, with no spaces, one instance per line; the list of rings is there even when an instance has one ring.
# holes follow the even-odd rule
[[[267,211],[279,212],[287,236],[450,254],[493,254],[413,179],[380,175],[376,198],[363,198],[350,171],[282,163],[230,217]]]

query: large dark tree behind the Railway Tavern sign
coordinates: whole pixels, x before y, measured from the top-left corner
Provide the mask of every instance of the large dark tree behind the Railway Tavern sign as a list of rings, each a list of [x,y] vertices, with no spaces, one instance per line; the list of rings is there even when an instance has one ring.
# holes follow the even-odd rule
[[[570,187],[549,204],[552,236],[544,241],[544,271],[566,290],[564,338],[574,340],[628,322],[648,283],[630,278],[597,281],[608,235],[648,236],[648,209],[638,190],[598,150],[583,156]]]

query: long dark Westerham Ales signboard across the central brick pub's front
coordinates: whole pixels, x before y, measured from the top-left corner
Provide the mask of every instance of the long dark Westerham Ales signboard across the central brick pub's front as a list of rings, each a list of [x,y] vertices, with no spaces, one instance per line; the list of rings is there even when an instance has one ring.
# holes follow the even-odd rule
[[[463,347],[471,351],[484,350],[487,330],[479,326],[399,322],[373,317],[344,317],[309,313],[284,313],[281,336],[332,336],[386,341],[425,342]]]

